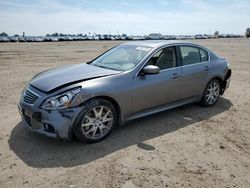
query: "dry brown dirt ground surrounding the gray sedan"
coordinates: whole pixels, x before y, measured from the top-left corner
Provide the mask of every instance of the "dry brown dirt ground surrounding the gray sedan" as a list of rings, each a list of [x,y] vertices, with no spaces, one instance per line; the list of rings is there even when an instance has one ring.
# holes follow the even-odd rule
[[[250,40],[195,40],[226,57],[216,106],[186,105],[128,123],[97,144],[30,133],[17,111],[38,72],[86,62],[120,42],[0,44],[0,187],[249,187]]]

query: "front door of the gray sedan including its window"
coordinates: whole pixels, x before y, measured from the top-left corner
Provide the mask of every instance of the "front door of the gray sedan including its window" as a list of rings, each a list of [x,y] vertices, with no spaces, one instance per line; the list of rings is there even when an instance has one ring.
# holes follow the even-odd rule
[[[138,74],[133,80],[133,111],[174,102],[181,97],[181,67],[175,47],[157,51],[146,63],[160,68],[158,74]]]

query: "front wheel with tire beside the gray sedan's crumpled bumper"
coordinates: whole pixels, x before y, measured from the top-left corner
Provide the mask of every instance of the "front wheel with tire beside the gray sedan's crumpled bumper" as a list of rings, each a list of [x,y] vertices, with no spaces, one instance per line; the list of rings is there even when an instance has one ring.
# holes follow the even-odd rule
[[[81,142],[96,143],[106,138],[117,122],[114,105],[105,99],[91,99],[84,103],[74,130]]]

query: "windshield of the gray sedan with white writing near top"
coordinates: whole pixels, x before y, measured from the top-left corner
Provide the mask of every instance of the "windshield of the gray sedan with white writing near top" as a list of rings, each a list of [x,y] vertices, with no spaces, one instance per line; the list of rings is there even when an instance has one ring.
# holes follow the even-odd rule
[[[151,50],[150,47],[120,45],[95,59],[91,65],[126,71],[135,67]]]

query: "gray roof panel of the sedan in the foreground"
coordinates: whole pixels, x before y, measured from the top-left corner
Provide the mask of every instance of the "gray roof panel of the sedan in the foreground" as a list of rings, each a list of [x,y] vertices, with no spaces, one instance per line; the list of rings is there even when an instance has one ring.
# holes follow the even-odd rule
[[[196,45],[191,42],[183,42],[183,41],[178,41],[178,40],[144,40],[144,41],[127,42],[127,43],[124,43],[123,45],[137,45],[137,46],[146,46],[146,47],[156,48],[156,47],[171,45],[171,44]]]

